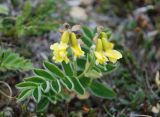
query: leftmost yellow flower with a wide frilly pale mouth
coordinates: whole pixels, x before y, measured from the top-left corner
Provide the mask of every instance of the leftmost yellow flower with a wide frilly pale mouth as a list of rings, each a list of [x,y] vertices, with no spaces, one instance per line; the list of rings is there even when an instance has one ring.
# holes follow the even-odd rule
[[[68,59],[68,42],[69,42],[69,32],[65,31],[62,34],[61,42],[60,43],[54,43],[50,46],[50,49],[53,50],[53,60],[55,60],[56,63],[65,61],[66,63],[69,62]]]

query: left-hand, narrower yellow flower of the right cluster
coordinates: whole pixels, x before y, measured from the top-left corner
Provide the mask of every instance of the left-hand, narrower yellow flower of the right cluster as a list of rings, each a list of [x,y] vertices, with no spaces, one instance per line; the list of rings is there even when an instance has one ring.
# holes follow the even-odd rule
[[[97,40],[96,51],[94,52],[96,57],[96,64],[104,64],[108,59],[105,57],[102,49],[102,41],[101,39]]]

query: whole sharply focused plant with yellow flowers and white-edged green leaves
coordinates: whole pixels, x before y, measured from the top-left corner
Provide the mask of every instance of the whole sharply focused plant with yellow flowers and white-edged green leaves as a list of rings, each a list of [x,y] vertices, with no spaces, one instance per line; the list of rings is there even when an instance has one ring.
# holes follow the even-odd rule
[[[44,61],[44,69],[35,69],[34,76],[27,77],[17,84],[20,89],[18,101],[32,96],[37,102],[37,110],[43,111],[49,102],[55,104],[66,100],[71,93],[93,95],[113,99],[116,93],[99,79],[117,67],[122,58],[119,51],[113,49],[109,41],[111,32],[97,27],[87,26],[70,28],[65,24],[59,43],[50,46],[53,62]]]

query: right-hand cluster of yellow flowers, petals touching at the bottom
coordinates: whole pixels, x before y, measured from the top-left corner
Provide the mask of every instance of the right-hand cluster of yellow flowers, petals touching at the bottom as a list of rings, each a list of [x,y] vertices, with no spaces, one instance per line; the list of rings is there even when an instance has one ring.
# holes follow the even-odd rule
[[[115,63],[118,59],[122,58],[122,54],[114,50],[114,44],[108,41],[108,36],[105,32],[101,32],[96,42],[96,64],[104,64],[107,61]]]

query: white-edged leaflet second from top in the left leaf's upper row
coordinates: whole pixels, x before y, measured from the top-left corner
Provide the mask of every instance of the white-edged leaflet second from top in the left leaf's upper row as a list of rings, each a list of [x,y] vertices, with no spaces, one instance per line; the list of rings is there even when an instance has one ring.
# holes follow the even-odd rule
[[[48,80],[55,79],[50,73],[48,73],[46,70],[43,70],[43,69],[35,69],[34,73],[44,79],[48,79]]]

